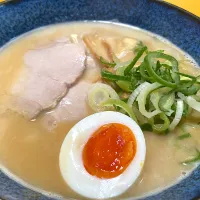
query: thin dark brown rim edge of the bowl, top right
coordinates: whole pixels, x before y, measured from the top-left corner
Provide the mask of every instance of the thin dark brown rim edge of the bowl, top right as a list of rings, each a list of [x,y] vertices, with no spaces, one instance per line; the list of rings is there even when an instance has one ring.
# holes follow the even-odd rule
[[[179,6],[176,6],[176,5],[172,4],[172,3],[166,2],[166,1],[164,1],[164,0],[150,0],[150,1],[156,2],[156,3],[158,3],[158,4],[161,4],[161,5],[163,5],[163,6],[166,6],[166,7],[168,7],[168,8],[172,8],[172,9],[181,11],[183,14],[185,14],[185,15],[187,15],[187,16],[193,18],[193,20],[197,21],[197,22],[200,24],[200,17],[198,17],[197,15],[195,15],[195,14],[193,14],[193,13],[191,13],[191,12],[189,12],[189,11],[187,11],[187,10],[185,10],[185,9],[183,9],[183,8],[181,8],[181,7],[179,7]]]

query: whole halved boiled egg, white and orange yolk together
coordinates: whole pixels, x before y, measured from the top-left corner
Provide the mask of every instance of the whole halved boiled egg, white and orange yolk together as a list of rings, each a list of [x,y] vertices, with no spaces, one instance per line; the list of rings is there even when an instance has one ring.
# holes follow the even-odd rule
[[[140,175],[146,154],[144,135],[130,117],[100,112],[78,122],[60,151],[65,182],[87,198],[111,198],[125,192]]]

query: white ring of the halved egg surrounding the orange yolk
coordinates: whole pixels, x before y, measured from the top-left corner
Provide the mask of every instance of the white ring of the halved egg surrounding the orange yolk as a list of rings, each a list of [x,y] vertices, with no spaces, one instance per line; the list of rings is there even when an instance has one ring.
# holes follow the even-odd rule
[[[136,138],[137,151],[122,174],[111,179],[100,179],[84,168],[82,151],[92,134],[109,123],[129,127]],[[119,112],[105,111],[84,118],[69,131],[60,151],[60,171],[65,182],[80,195],[93,199],[111,198],[125,192],[136,181],[142,171],[145,155],[144,135],[136,122]]]

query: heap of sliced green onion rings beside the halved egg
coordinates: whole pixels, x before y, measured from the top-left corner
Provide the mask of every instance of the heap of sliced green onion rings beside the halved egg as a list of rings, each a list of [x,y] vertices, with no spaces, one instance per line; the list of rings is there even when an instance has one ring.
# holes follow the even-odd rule
[[[192,109],[200,112],[200,76],[179,72],[173,56],[163,50],[148,51],[142,42],[134,53],[135,57],[126,62],[120,62],[116,56],[114,62],[100,57],[102,64],[114,67],[114,73],[102,70],[102,78],[126,95],[119,97],[115,90],[104,86],[93,88],[88,93],[88,103],[94,111],[115,109],[127,113],[143,130],[163,133],[173,130]],[[143,61],[135,67],[144,54]],[[178,136],[180,140],[187,137],[189,134]]]

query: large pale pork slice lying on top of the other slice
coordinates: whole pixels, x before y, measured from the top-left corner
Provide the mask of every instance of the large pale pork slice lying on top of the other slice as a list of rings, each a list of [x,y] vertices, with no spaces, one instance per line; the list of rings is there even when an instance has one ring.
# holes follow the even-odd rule
[[[16,97],[13,110],[33,119],[56,106],[83,74],[85,58],[82,44],[64,42],[27,52],[25,68],[11,90]]]

